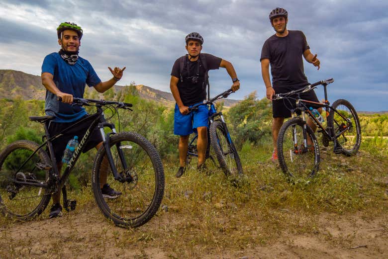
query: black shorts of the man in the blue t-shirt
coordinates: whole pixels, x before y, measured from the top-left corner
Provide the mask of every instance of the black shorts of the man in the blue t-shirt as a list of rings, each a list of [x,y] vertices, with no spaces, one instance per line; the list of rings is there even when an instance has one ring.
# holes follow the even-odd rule
[[[84,116],[81,119],[87,118],[88,115]],[[80,120],[81,120],[80,119]],[[62,130],[66,129],[67,127],[73,125],[74,123],[78,122],[73,121],[73,122],[50,122],[49,125],[49,134],[51,137],[54,135],[58,134]],[[62,161],[62,156],[63,152],[66,149],[66,145],[71,140],[74,138],[74,136],[78,136],[78,141],[80,142],[82,138],[85,135],[85,132],[88,130],[89,126],[91,125],[93,121],[93,118],[91,120],[86,120],[85,122],[75,125],[74,127],[70,128],[67,132],[64,132],[61,137],[58,139],[54,140],[52,142],[53,148],[54,148],[54,154],[55,154],[55,159],[57,160],[57,163]],[[98,130],[98,127],[96,127],[92,132],[91,135],[89,136],[89,141],[85,143],[84,151],[83,153],[91,150],[92,148],[96,147],[97,144],[102,142],[102,136],[100,131]]]

